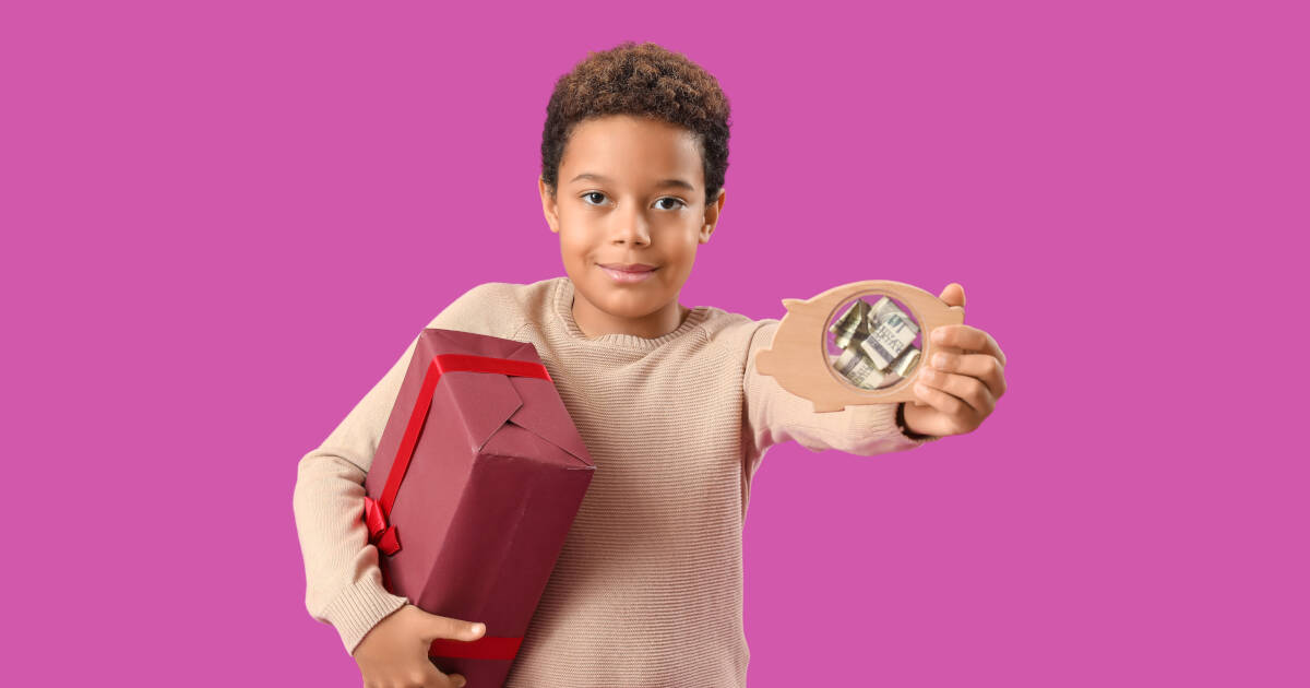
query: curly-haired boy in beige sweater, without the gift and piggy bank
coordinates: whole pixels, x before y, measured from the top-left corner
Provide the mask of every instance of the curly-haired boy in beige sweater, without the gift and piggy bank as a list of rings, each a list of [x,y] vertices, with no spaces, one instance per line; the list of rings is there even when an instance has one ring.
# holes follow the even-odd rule
[[[507,687],[744,685],[741,527],[765,451],[791,439],[904,451],[934,439],[916,430],[972,430],[1003,393],[1003,354],[959,326],[946,343],[985,353],[951,356],[904,429],[901,405],[814,413],[755,371],[777,320],[679,304],[723,208],[727,115],[714,77],[681,55],[631,42],[591,54],[555,85],[541,147],[542,211],[567,277],[479,284],[428,325],[532,342],[596,463]],[[943,299],[963,305],[955,287]],[[462,685],[427,646],[485,629],[388,592],[360,522],[413,351],[300,461],[307,607],[338,629],[367,685]]]

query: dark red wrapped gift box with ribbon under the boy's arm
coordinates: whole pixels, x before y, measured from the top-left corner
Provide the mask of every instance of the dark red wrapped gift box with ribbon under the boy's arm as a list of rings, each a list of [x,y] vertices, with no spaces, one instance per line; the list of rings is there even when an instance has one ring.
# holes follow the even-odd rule
[[[486,622],[428,651],[468,688],[504,684],[596,465],[536,347],[424,329],[365,478],[383,581]]]

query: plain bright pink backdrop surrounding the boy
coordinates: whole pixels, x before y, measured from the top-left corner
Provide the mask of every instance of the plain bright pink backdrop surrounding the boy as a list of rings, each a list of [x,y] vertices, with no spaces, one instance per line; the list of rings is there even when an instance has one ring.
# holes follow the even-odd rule
[[[5,683],[359,685],[296,463],[563,274],[546,100],[631,38],[734,107],[684,304],[959,282],[1010,362],[976,432],[769,453],[753,688],[1310,684],[1296,5],[5,3]]]

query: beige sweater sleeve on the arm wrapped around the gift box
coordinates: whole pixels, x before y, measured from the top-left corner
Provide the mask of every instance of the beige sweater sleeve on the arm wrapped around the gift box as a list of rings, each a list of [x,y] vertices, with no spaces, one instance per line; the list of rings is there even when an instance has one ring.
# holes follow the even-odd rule
[[[456,299],[428,328],[504,337],[504,311],[487,286]],[[341,634],[347,653],[379,621],[413,600],[383,586],[377,548],[363,523],[364,478],[401,383],[418,346],[418,335],[317,448],[300,459],[292,497],[296,531],[305,562],[305,607],[309,615]]]

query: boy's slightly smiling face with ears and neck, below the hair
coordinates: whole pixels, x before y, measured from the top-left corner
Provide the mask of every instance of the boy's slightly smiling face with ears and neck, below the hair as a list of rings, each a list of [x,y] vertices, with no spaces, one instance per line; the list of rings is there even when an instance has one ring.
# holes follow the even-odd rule
[[[714,232],[724,197],[719,193],[706,206],[693,134],[630,115],[582,122],[565,147],[558,183],[552,198],[537,178],[546,221],[559,235],[574,283],[575,312],[590,311],[593,321],[614,329],[641,332],[668,321],[676,328],[679,291],[692,274],[697,246]],[[605,267],[629,263],[651,270]]]

